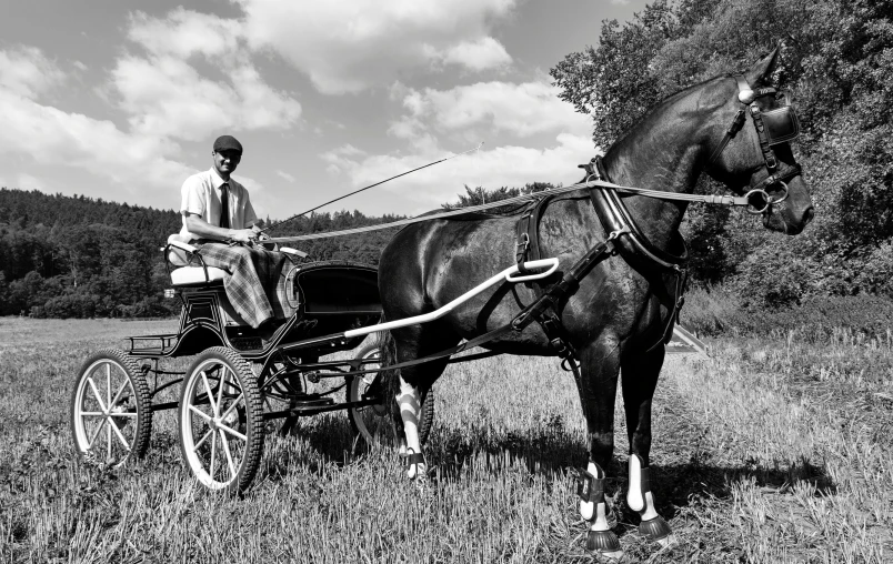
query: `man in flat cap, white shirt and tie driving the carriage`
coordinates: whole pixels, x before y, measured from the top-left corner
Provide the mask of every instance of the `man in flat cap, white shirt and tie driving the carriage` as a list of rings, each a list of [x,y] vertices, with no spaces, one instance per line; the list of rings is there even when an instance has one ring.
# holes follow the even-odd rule
[[[254,208],[248,190],[230,175],[242,160],[242,144],[221,135],[211,155],[210,170],[183,182],[180,239],[198,246],[207,265],[229,273],[223,286],[232,306],[252,328],[269,332],[275,319],[293,313],[282,283],[289,261],[254,245],[260,231]]]

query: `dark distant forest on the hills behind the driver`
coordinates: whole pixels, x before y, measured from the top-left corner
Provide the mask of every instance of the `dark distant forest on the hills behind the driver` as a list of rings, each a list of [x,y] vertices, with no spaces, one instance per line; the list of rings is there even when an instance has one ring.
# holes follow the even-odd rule
[[[273,235],[334,231],[395,221],[360,212],[315,213]],[[268,220],[269,222],[269,220]],[[0,189],[0,315],[36,318],[174,314],[161,248],[180,214],[84,195]],[[390,231],[390,233],[389,233]],[[299,245],[314,260],[378,264],[393,230]]]

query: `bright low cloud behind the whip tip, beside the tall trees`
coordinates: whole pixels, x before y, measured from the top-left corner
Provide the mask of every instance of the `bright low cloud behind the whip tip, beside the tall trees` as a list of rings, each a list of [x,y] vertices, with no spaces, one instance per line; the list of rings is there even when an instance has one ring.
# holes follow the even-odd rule
[[[513,141],[479,150],[437,168],[424,169],[382,187],[401,197],[402,213],[433,209],[452,201],[464,184],[486,188],[522,187],[528,182],[572,183],[580,180],[578,163],[588,162],[595,148],[588,117],[556,97],[545,82],[481,82],[450,90],[415,91],[392,87],[407,113],[391,125],[391,134],[405,139],[407,153],[369,154],[351,145],[323,153],[332,173],[345,174],[353,185],[364,185],[405,172],[449,151],[440,138],[469,130],[496,130]],[[523,147],[519,141],[532,134],[554,132],[544,149]],[[394,210],[377,210],[394,211]]]

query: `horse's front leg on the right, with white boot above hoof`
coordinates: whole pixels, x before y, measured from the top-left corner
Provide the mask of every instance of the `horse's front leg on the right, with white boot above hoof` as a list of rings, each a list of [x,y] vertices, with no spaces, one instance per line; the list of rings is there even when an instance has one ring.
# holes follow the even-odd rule
[[[651,402],[663,365],[664,348],[650,353],[629,354],[623,359],[623,409],[630,439],[630,483],[626,504],[642,518],[639,533],[669,546],[673,531],[654,507],[651,492]]]

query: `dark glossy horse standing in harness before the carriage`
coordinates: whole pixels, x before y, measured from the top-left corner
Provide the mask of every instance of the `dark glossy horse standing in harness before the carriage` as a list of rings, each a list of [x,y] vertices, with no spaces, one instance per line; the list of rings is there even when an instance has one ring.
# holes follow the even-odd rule
[[[703,171],[738,194],[754,187],[776,194],[784,184],[769,177],[775,169],[786,170],[786,198],[771,197],[763,222],[773,231],[800,233],[814,213],[807,187],[789,143],[766,143],[762,134],[766,123],[759,121],[761,113],[781,108],[774,95],[766,95],[774,90],[761,89],[769,87],[775,57],[776,51],[738,80],[718,77],[669,97],[611,147],[602,160],[606,177],[626,187],[692,193]],[[742,109],[747,111],[740,112]],[[738,134],[729,139],[732,122],[736,122]],[[668,255],[680,254],[678,230],[684,202],[636,195],[623,201],[653,248]],[[384,316],[398,320],[430,312],[512,265],[515,222],[516,218],[466,216],[417,223],[399,232],[382,252],[379,266]],[[588,190],[558,195],[540,222],[541,255],[555,256],[566,268],[605,241],[606,229]],[[671,278],[662,274],[665,272],[621,252],[595,264],[561,309],[568,341],[581,364],[579,392],[589,429],[588,471],[600,487],[602,469],[614,450],[614,399],[622,371],[630,441],[628,503],[642,516],[640,531],[663,543],[672,540],[671,531],[654,510],[648,476],[651,402],[664,360],[664,329],[678,298]],[[535,298],[523,284],[506,283],[435,322],[394,330],[397,361],[433,354],[499,328],[519,313],[519,302],[530,303]],[[554,354],[538,325],[509,332],[485,346],[508,354]],[[408,451],[415,454],[410,457],[411,479],[424,472],[417,430],[421,401],[445,366],[446,360],[439,360],[401,373],[397,399]],[[581,513],[591,522],[588,548],[609,556],[621,554],[603,496],[581,502]]]

